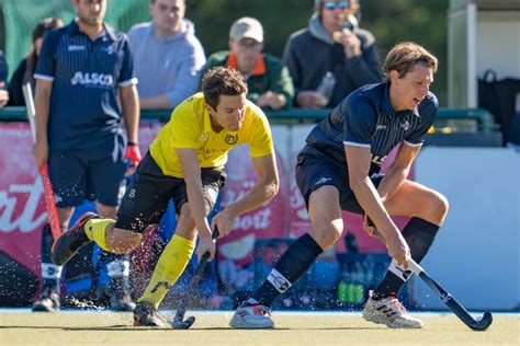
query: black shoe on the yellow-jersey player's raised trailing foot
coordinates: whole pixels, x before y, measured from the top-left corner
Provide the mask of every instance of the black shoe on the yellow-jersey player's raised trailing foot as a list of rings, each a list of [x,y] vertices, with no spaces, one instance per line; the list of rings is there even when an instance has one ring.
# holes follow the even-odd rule
[[[71,229],[64,232],[54,243],[52,258],[54,264],[64,265],[80,250],[87,245],[91,240],[84,232],[84,223],[91,219],[99,219],[100,217],[93,212],[83,214]]]

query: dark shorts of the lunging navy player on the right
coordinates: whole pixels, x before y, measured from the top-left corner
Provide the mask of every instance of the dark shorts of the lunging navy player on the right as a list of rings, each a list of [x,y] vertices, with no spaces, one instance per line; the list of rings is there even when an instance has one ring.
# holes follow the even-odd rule
[[[377,187],[383,176],[383,174],[375,173],[370,180]],[[299,153],[296,163],[296,184],[305,198],[307,209],[310,194],[321,186],[331,185],[339,191],[341,210],[364,214],[353,191],[350,188],[346,165],[336,164],[324,158]]]

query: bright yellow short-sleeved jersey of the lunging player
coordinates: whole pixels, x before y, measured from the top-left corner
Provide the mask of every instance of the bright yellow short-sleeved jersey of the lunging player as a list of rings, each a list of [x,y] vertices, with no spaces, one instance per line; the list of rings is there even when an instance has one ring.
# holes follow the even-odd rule
[[[251,158],[273,153],[268,118],[262,109],[246,100],[242,126],[237,131],[215,132],[203,93],[196,93],[179,104],[150,145],[150,154],[165,175],[183,177],[176,149],[194,149],[201,168],[223,168],[227,152],[249,143]]]

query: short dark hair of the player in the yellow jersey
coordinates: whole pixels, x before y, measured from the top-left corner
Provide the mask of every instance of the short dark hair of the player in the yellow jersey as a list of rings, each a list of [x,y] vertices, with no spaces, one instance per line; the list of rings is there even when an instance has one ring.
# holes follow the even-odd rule
[[[225,67],[215,67],[204,73],[202,78],[202,93],[206,104],[216,111],[221,95],[235,96],[247,93],[247,85],[242,74]]]

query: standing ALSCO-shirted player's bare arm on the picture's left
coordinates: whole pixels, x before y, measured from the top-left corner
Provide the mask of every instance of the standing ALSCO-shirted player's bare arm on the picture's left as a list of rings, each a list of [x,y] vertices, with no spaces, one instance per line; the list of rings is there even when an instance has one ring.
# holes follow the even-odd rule
[[[36,80],[36,95],[34,100],[34,107],[36,111],[36,140],[33,147],[33,155],[38,168],[46,163],[48,159],[47,126],[52,92],[53,81],[43,79]]]

